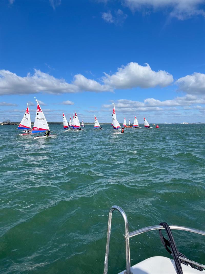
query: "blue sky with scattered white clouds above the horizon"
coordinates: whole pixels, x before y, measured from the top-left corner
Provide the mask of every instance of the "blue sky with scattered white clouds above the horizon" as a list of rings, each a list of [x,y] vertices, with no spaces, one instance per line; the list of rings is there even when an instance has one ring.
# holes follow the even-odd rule
[[[204,122],[203,0],[2,0],[1,116]]]

